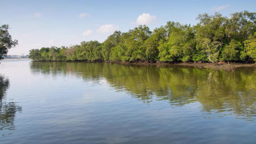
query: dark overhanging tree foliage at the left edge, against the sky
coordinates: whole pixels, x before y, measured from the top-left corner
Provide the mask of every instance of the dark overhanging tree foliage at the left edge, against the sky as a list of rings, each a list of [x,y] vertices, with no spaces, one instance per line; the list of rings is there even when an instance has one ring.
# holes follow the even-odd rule
[[[12,41],[12,37],[8,31],[9,26],[3,25],[0,26],[0,60],[6,56],[8,49],[18,44],[17,40]]]

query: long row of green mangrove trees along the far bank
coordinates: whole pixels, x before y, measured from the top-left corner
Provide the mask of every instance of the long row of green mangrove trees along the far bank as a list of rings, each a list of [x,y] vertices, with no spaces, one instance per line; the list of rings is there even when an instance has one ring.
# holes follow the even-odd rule
[[[256,12],[199,14],[196,26],[167,22],[115,31],[103,43],[30,50],[35,61],[256,62]]]

